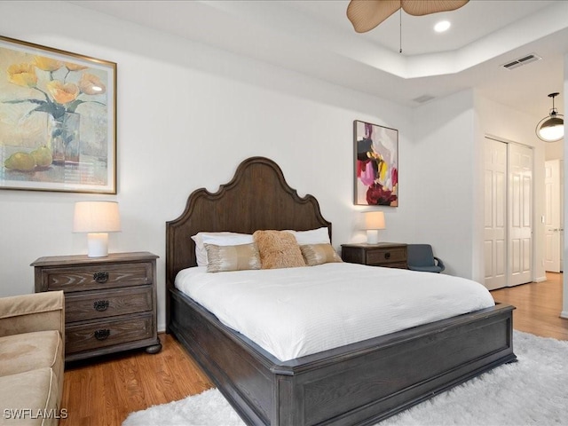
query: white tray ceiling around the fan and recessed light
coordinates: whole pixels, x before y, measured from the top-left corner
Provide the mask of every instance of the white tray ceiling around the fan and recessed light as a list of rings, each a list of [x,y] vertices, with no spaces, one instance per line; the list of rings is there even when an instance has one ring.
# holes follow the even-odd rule
[[[397,12],[365,34],[352,29],[346,0],[70,3],[406,106],[475,87],[544,116],[548,93],[559,91],[556,106],[565,114],[568,2],[562,0],[470,0],[457,11],[422,17]],[[452,27],[437,34],[432,28],[443,19]],[[501,67],[530,53],[541,59]]]

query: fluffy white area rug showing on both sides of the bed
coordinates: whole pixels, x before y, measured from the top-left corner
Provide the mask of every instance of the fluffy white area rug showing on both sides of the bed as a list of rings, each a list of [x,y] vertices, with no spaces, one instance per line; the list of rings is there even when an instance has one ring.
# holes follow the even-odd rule
[[[568,425],[568,342],[514,332],[517,363],[380,422],[398,425]],[[216,390],[132,413],[122,426],[242,426]]]

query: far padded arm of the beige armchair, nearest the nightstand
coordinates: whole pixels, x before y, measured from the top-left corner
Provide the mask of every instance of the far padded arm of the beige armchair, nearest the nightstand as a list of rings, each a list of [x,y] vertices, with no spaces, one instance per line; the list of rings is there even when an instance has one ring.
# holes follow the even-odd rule
[[[58,330],[65,342],[63,291],[0,298],[0,336]]]

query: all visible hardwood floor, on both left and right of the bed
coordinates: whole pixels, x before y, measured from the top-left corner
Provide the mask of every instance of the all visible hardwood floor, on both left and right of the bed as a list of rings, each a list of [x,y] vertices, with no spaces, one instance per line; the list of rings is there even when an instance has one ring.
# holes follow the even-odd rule
[[[562,274],[547,281],[493,290],[497,302],[517,306],[518,330],[568,340],[562,309]],[[160,334],[162,351],[155,355],[130,351],[66,366],[60,426],[120,426],[133,411],[201,393],[213,386],[171,335]]]

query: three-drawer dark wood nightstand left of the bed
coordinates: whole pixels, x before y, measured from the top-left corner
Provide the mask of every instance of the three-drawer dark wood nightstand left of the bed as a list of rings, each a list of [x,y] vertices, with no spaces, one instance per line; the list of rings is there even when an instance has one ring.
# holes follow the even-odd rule
[[[31,264],[36,293],[65,293],[66,361],[162,349],[156,324],[156,258],[147,252],[47,256]]]

